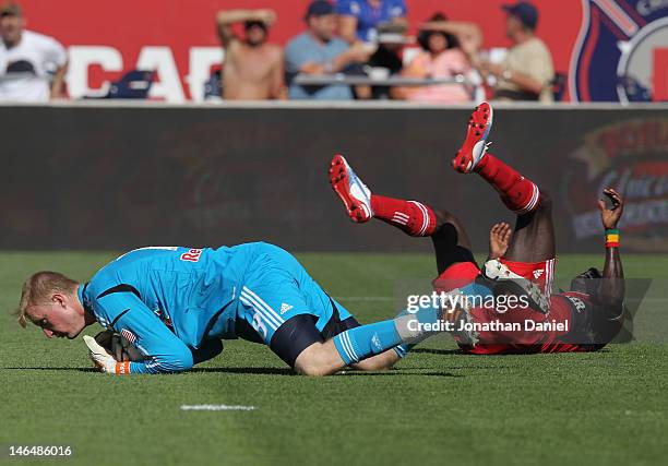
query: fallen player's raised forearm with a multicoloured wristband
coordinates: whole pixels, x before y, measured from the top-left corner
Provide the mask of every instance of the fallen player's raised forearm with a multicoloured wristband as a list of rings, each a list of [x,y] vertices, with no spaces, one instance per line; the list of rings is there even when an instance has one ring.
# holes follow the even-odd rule
[[[624,271],[619,254],[618,223],[624,211],[624,202],[620,193],[612,188],[604,190],[604,195],[610,201],[608,208],[604,200],[598,201],[600,219],[606,229],[606,263],[603,280],[598,287],[597,301],[609,310],[621,310],[624,300]]]

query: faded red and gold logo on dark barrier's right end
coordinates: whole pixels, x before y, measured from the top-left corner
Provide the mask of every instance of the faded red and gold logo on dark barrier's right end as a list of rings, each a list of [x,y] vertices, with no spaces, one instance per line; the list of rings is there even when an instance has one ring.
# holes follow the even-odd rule
[[[628,202],[627,244],[635,251],[668,250],[668,119],[632,119],[586,132],[570,155],[564,201],[576,241],[600,236],[591,200],[615,186]]]

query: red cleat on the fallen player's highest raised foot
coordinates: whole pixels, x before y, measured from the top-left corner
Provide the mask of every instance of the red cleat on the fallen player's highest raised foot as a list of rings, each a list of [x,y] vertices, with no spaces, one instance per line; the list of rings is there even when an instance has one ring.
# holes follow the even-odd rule
[[[452,166],[455,170],[462,174],[469,174],[476,165],[482,159],[487,152],[487,136],[491,130],[492,123],[492,108],[484,101],[478,105],[468,120],[468,131],[466,131],[466,139],[462,148],[455,155],[452,160]]]

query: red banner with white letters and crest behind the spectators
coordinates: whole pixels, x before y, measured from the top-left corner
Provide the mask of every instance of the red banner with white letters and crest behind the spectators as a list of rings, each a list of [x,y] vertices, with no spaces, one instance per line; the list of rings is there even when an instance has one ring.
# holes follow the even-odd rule
[[[215,28],[222,9],[273,8],[271,40],[285,45],[303,29],[308,0],[24,0],[28,27],[52,35],[69,49],[68,85],[74,98],[104,95],[123,72],[157,72],[151,98],[172,103],[204,98],[204,84],[224,53]],[[485,48],[506,48],[504,0],[407,0],[416,25],[442,11],[453,21],[480,25]],[[568,76],[566,99],[665,100],[668,97],[668,4],[649,0],[536,1],[537,34],[554,68]],[[100,21],[104,19],[104,22]],[[569,97],[570,94],[570,97]]]

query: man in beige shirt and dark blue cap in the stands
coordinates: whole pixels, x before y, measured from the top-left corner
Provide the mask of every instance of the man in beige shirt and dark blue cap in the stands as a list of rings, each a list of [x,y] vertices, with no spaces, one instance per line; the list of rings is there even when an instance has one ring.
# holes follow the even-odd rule
[[[503,5],[503,10],[512,47],[501,63],[475,60],[474,64],[485,77],[496,76],[496,99],[552,101],[554,68],[549,49],[536,36],[538,10],[527,1]]]

